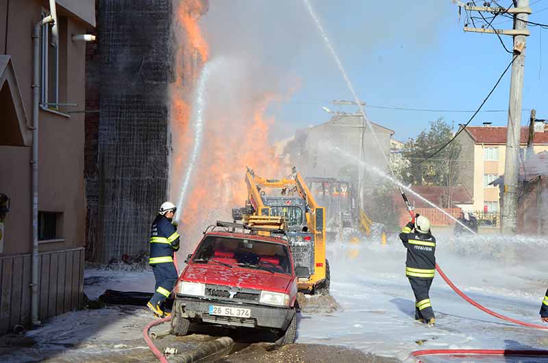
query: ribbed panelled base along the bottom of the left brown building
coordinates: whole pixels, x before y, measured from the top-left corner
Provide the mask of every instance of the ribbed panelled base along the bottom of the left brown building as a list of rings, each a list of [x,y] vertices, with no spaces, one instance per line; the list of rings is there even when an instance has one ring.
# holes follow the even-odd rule
[[[0,257],[0,336],[31,323],[31,262],[29,254]],[[40,321],[82,306],[84,264],[82,247],[40,253]]]

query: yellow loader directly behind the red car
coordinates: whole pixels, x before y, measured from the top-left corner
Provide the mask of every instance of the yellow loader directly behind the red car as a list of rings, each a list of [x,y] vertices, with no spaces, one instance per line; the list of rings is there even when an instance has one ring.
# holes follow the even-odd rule
[[[283,179],[259,177],[247,168],[247,201],[232,210],[234,221],[268,228],[272,216],[284,218],[301,292],[329,292],[329,262],[325,258],[325,208],[320,207],[295,167]],[[262,223],[264,219],[264,223]],[[268,234],[262,231],[260,234]]]

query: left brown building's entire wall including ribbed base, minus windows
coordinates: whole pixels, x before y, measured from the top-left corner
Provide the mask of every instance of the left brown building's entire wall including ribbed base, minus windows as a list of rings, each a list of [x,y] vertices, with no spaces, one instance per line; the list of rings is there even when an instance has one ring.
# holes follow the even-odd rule
[[[46,0],[10,1],[5,42],[5,2],[0,5],[0,51],[8,45],[27,118],[32,120],[32,32]],[[86,23],[58,7],[59,101],[85,104],[84,42],[72,34],[86,33]],[[74,109],[72,109],[74,110]],[[62,214],[59,239],[41,241],[40,318],[73,308],[82,299],[84,271],[84,114],[39,111],[38,210]],[[1,131],[0,131],[1,132]],[[0,334],[14,323],[29,323],[29,276],[32,251],[31,147],[0,145],[0,192],[11,199],[0,253]],[[75,257],[77,256],[77,257]],[[47,262],[46,262],[47,259]],[[76,259],[76,260],[75,260]],[[46,266],[49,266],[46,269]],[[45,300],[47,299],[47,301]],[[44,306],[47,306],[44,310]]]

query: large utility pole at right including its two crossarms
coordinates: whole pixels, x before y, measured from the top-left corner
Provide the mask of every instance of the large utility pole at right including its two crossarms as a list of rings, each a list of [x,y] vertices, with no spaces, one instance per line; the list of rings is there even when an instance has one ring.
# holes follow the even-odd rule
[[[512,78],[510,80],[510,101],[508,104],[508,129],[506,133],[506,162],[504,165],[504,188],[502,195],[501,231],[513,234],[516,231],[516,210],[519,186],[519,142],[521,134],[521,99],[523,96],[523,71],[525,67],[525,41],[530,35],[527,30],[527,18],[532,13],[529,0],[514,0],[514,8],[490,6],[471,6],[457,1],[465,10],[490,12],[492,14],[512,14],[514,27],[511,30],[488,27],[471,28],[467,25],[464,32],[508,35],[514,37],[512,57]],[[482,15],[483,16],[483,15]]]

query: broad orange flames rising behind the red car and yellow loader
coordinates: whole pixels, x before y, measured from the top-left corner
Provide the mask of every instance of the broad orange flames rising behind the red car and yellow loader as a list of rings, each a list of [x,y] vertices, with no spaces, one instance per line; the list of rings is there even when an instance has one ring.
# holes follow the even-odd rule
[[[231,220],[232,208],[245,205],[245,166],[261,175],[281,176],[269,142],[274,119],[264,116],[268,105],[277,99],[275,95],[263,95],[251,110],[253,117],[241,121],[238,131],[219,127],[223,121],[208,123],[204,151],[193,177],[195,183],[181,211],[187,247],[196,245],[198,240],[192,238],[199,238],[207,225],[217,219]]]

